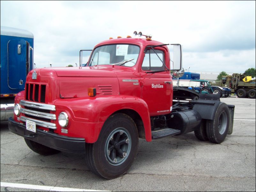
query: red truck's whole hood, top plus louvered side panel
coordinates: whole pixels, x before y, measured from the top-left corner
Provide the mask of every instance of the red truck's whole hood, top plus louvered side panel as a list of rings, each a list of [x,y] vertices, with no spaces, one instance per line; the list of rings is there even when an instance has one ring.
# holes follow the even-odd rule
[[[119,83],[112,66],[51,68],[59,80],[60,98],[88,97],[88,88],[96,96],[119,94]]]

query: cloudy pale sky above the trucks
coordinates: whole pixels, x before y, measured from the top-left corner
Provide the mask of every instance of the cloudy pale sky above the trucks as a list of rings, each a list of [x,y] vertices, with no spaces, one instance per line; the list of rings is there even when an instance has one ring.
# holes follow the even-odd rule
[[[255,1],[1,1],[1,26],[34,34],[36,67],[79,64],[79,50],[133,31],[183,45],[183,67],[255,68]]]

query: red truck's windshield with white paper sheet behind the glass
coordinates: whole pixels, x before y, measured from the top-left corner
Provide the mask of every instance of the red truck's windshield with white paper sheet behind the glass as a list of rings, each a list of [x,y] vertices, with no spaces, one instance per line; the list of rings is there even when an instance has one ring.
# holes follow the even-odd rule
[[[139,47],[135,45],[105,45],[94,50],[89,61],[93,65],[122,65],[132,67],[137,62]]]

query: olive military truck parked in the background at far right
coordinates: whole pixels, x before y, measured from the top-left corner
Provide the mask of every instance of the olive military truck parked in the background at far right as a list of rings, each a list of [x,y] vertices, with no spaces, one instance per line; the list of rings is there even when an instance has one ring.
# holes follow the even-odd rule
[[[245,73],[233,73],[232,75],[222,76],[221,81],[211,82],[213,86],[225,86],[231,89],[231,93],[236,93],[237,97],[249,97],[255,99],[255,79],[244,82],[247,75]]]

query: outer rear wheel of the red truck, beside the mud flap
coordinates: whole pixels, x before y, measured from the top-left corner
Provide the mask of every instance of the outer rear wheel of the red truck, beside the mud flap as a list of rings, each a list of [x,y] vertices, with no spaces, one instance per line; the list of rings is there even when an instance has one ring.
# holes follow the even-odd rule
[[[206,133],[209,141],[221,143],[227,136],[229,128],[229,108],[226,103],[220,103],[213,120],[206,121]]]

